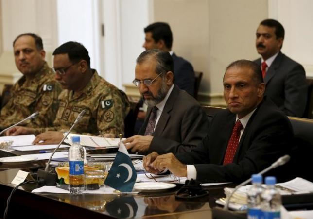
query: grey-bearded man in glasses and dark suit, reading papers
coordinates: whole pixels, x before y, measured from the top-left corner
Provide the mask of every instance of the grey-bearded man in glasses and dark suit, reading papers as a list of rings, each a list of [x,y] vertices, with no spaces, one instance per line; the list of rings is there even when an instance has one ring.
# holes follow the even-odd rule
[[[173,71],[173,58],[166,51],[147,50],[137,58],[133,83],[149,107],[139,135],[124,141],[132,152],[185,152],[206,136],[206,114],[194,98],[174,85]]]

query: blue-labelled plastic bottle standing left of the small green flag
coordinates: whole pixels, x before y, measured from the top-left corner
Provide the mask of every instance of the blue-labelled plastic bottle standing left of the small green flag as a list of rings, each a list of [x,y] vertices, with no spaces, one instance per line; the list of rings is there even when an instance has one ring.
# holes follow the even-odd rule
[[[80,137],[72,137],[72,146],[69,149],[70,166],[70,193],[79,194],[84,191],[84,149],[80,145]]]

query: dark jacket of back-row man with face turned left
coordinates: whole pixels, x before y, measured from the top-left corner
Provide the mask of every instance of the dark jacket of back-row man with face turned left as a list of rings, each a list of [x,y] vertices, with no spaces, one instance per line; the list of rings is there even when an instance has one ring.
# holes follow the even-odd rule
[[[181,90],[185,90],[191,96],[194,95],[194,71],[191,64],[175,55],[172,55],[174,61],[174,83]]]

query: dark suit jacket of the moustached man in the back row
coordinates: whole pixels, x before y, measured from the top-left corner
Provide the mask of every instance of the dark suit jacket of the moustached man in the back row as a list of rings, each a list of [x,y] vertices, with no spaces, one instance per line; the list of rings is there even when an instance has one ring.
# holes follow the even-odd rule
[[[255,60],[261,66],[261,58]],[[270,97],[287,116],[303,117],[308,96],[304,68],[278,53],[264,78],[265,95]]]

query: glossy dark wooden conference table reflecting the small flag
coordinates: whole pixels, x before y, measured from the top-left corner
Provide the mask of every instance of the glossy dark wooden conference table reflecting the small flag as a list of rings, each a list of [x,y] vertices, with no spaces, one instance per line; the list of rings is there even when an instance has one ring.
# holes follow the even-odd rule
[[[7,155],[7,154],[5,154]],[[13,154],[12,154],[13,155]],[[0,156],[4,156],[0,152]],[[46,161],[34,161],[23,165],[0,164],[0,218],[6,201],[15,185],[12,179],[18,170],[30,173],[34,178],[38,168]],[[13,194],[9,205],[8,218],[164,218],[164,219],[201,219],[201,218],[245,218],[244,213],[221,211],[216,208],[215,200],[224,197],[225,185],[206,187],[209,195],[185,201],[175,198],[175,192],[182,186],[176,184],[163,192],[138,194],[59,194],[31,193],[38,184],[22,185]],[[235,185],[227,185],[235,186]],[[226,214],[226,215],[225,215]]]

